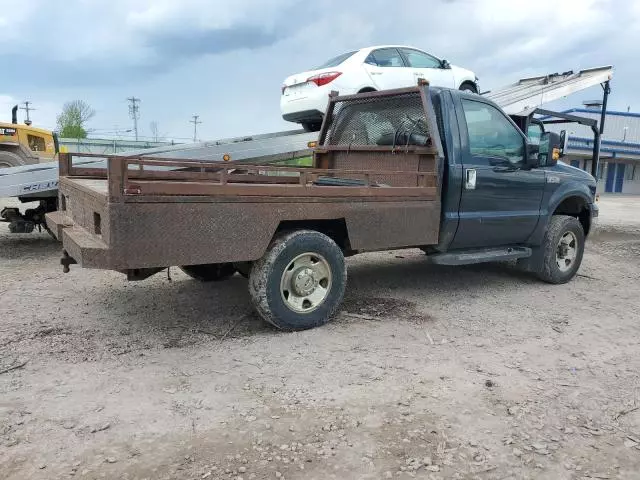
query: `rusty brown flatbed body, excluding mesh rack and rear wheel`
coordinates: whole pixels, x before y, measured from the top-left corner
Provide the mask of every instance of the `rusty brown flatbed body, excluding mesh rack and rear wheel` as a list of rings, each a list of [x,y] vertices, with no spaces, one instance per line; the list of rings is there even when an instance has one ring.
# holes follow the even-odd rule
[[[417,164],[418,157],[433,158],[433,151],[398,155],[415,157]],[[253,261],[282,222],[294,221],[344,222],[353,251],[437,243],[440,202],[433,170],[256,166],[234,174],[233,165],[207,172],[193,162],[111,157],[102,172],[106,178],[96,178],[101,172],[76,172],[71,163],[71,156],[62,156],[62,208],[48,216],[48,225],[84,267]],[[131,170],[160,164],[201,171]],[[318,185],[323,175],[362,178],[363,184]],[[406,185],[409,178],[412,185]]]

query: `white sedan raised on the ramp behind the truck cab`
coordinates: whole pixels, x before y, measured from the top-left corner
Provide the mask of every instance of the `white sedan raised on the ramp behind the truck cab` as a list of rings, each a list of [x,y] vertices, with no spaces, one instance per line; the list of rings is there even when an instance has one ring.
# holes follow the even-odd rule
[[[467,69],[449,64],[413,47],[384,45],[343,53],[314,70],[284,81],[282,118],[301,123],[305,130],[320,129],[328,95],[411,87],[424,78],[431,85],[478,93],[478,78]]]

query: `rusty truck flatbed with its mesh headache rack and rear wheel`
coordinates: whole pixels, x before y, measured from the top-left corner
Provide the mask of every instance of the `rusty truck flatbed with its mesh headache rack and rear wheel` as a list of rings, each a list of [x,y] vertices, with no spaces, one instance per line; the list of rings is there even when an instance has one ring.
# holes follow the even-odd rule
[[[60,155],[59,211],[47,226],[63,265],[134,280],[169,266],[222,279],[249,265],[266,320],[286,329],[326,321],[344,292],[344,255],[438,243],[444,158],[427,86],[333,96],[327,118],[338,120],[323,125],[313,167],[102,156],[107,167],[96,168],[74,163],[88,155]],[[271,298],[273,275],[283,290]]]

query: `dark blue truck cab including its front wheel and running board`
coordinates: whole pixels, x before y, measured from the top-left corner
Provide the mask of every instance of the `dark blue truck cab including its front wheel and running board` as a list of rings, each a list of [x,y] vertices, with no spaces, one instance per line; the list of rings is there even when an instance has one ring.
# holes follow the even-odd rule
[[[440,130],[440,241],[426,252],[447,264],[519,258],[545,281],[569,281],[598,216],[595,179],[558,163],[563,138],[533,116],[509,117],[455,90],[434,88],[431,98],[449,128]]]

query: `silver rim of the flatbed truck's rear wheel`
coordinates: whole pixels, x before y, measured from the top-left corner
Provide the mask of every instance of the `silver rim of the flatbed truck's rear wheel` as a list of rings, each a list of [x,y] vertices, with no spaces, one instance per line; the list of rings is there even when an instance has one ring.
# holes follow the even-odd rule
[[[303,253],[291,260],[282,273],[280,294],[296,313],[310,313],[322,305],[331,290],[331,267],[317,253]]]

